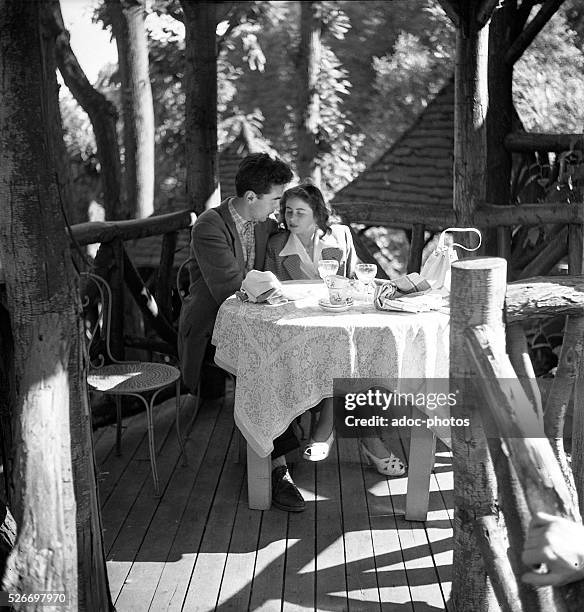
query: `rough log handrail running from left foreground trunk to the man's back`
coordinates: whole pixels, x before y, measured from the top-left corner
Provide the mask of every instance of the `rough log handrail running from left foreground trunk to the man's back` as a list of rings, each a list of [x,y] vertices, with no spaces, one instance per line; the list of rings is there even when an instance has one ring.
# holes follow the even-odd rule
[[[79,245],[110,242],[115,238],[132,240],[192,227],[196,219],[192,210],[181,210],[131,221],[88,221],[73,225],[71,236]]]

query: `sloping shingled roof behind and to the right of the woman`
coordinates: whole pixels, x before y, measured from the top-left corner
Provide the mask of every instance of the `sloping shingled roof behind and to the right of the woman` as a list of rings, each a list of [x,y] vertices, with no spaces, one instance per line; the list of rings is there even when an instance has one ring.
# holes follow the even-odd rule
[[[335,194],[340,202],[452,207],[454,81],[377,161]]]

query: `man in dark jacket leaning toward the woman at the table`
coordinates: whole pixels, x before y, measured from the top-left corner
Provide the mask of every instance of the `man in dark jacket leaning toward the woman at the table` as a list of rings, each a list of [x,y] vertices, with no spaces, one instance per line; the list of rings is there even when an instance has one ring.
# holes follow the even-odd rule
[[[178,351],[182,376],[195,392],[210,344],[217,311],[241,287],[249,270],[263,270],[268,238],[277,231],[269,218],[292,180],[290,168],[266,153],[248,155],[235,177],[236,196],[206,210],[191,235],[189,297],[179,319]],[[301,512],[305,503],[292,482],[284,454],[298,446],[291,429],[274,440],[272,503],[281,510]]]

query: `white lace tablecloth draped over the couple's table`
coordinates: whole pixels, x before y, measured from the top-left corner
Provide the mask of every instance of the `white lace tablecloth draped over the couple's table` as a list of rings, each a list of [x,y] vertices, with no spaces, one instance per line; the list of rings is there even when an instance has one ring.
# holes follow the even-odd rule
[[[227,299],[212,342],[237,376],[235,423],[260,456],[294,418],[332,397],[334,378],[447,378],[449,316],[380,312],[355,304],[330,313],[321,282],[286,283],[305,296],[271,306]]]

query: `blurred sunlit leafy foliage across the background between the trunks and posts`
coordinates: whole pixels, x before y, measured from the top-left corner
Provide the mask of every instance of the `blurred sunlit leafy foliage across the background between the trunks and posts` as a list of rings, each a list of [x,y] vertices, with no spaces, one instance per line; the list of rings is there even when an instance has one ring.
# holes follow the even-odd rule
[[[318,5],[319,136],[331,195],[387,150],[451,76],[455,36],[434,0]],[[179,0],[150,0],[148,7],[161,210],[184,194],[184,26]],[[219,146],[246,121],[294,164],[299,3],[221,2],[217,11]],[[105,19],[104,12],[97,18]],[[583,62],[584,9],[566,0],[515,68],[514,97],[527,129],[581,131]],[[104,69],[99,87],[119,104],[115,67]],[[62,108],[71,154],[91,157],[87,119],[70,97],[62,97]]]

